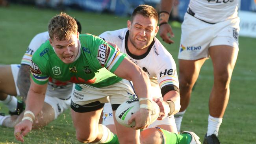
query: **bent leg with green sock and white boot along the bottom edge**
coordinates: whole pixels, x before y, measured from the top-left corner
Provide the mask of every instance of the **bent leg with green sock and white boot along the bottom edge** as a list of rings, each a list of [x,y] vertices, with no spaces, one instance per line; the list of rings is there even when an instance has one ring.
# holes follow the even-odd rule
[[[193,132],[171,133],[159,127],[145,129],[140,135],[141,144],[201,144]]]

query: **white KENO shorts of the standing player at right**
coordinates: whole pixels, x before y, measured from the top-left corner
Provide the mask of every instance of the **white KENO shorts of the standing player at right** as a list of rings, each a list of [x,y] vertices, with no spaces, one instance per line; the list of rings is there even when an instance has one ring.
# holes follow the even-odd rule
[[[238,49],[240,19],[208,24],[188,13],[182,23],[178,59],[197,60],[209,57],[209,47],[228,45]]]

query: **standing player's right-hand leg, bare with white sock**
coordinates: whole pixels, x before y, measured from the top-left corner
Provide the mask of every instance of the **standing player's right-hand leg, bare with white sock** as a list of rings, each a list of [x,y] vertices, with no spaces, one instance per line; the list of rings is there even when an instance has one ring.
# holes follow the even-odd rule
[[[218,135],[226,106],[228,104],[230,79],[236,64],[238,48],[227,45],[210,47],[213,63],[214,84],[210,94],[207,136]]]

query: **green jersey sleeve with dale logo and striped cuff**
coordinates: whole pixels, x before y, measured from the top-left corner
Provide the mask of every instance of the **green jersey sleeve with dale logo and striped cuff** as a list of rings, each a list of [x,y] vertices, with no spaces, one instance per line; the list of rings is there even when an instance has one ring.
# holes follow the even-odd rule
[[[95,47],[93,55],[95,56],[96,65],[105,67],[112,73],[115,72],[126,55],[113,48],[100,37],[94,36],[93,41],[92,45]]]

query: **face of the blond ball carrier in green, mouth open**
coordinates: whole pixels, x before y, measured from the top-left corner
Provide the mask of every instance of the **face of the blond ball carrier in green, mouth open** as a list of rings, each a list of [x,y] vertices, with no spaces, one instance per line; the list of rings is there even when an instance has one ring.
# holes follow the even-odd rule
[[[57,41],[50,39],[50,44],[53,46],[55,53],[63,61],[63,63],[73,63],[78,55],[78,39],[79,33],[72,34],[70,39]]]

